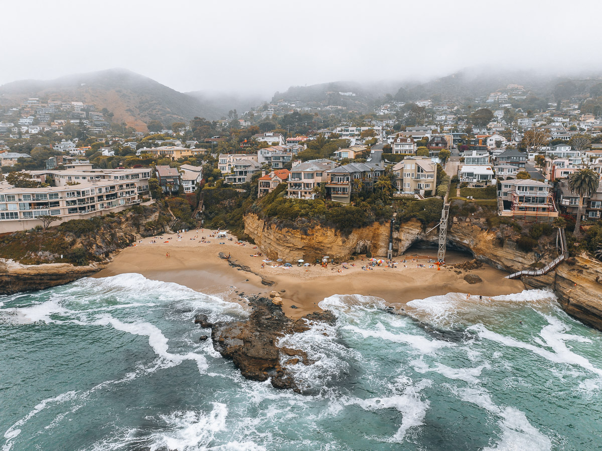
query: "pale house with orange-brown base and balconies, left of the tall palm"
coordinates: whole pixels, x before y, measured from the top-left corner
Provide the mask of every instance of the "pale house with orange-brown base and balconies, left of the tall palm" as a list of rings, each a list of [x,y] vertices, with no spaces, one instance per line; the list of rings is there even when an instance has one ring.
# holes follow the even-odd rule
[[[558,216],[547,182],[505,180],[497,193],[498,214],[537,222],[551,222]]]

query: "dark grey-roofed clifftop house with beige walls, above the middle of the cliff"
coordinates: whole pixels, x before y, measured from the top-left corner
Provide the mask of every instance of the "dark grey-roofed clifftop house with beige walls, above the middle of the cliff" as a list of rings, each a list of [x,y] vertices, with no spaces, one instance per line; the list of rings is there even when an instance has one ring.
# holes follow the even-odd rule
[[[351,202],[351,194],[373,190],[374,182],[385,173],[385,168],[371,163],[349,163],[326,172],[326,195],[332,201]]]

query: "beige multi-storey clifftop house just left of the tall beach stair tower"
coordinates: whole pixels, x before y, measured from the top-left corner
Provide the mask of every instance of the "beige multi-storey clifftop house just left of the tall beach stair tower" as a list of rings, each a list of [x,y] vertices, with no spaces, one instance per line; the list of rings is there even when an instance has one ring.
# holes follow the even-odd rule
[[[412,198],[428,198],[435,194],[437,164],[430,157],[405,158],[393,166],[393,173],[398,194],[409,194],[407,197]]]

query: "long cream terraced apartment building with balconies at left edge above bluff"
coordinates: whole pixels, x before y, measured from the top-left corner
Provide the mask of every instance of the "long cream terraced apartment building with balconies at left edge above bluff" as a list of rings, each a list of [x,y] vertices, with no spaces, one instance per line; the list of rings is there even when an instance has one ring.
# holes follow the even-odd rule
[[[29,172],[54,187],[16,188],[0,182],[0,233],[42,225],[39,216],[89,219],[125,210],[149,195],[151,169],[39,170]]]

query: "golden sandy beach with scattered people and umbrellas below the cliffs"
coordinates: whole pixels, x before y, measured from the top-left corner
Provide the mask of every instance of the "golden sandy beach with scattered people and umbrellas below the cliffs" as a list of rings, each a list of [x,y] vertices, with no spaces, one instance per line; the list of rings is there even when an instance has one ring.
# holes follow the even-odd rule
[[[205,243],[202,242],[203,236],[206,237]],[[219,257],[220,252],[230,255],[231,263],[249,267],[250,272],[232,267],[228,260]],[[265,295],[276,290],[282,293],[285,313],[293,318],[319,309],[317,304],[333,294],[376,296],[399,308],[406,308],[405,304],[413,299],[452,292],[498,296],[524,290],[522,282],[504,279],[506,273],[486,265],[470,270],[483,281],[468,284],[464,280],[468,272],[458,273],[450,266],[468,261],[470,256],[449,252],[446,255],[448,266],[438,270],[429,262],[436,260],[435,249],[409,249],[405,255],[394,258],[396,268],[383,264],[371,270],[362,270],[362,266],[371,262],[361,258],[348,261],[348,269],[330,264],[327,268],[317,264],[301,267],[294,264],[288,269],[273,267],[284,262],[264,263],[265,257],[254,257],[259,252],[261,249],[254,244],[237,244],[237,238],[231,234],[217,238],[216,231],[208,229],[199,229],[198,233],[191,230],[182,234],[181,238],[176,234],[164,234],[159,238],[141,238],[135,246],[120,252],[95,277],[140,273],[149,279],[175,282],[237,302],[240,302],[241,293]],[[385,259],[382,256],[376,258]],[[403,263],[404,259],[406,263]],[[262,278],[274,282],[273,285],[262,284]]]

